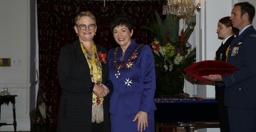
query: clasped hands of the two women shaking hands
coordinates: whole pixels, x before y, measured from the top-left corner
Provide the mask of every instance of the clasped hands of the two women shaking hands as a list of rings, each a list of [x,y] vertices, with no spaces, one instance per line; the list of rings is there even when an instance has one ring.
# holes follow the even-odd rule
[[[100,84],[94,84],[93,90],[95,95],[97,95],[99,98],[105,97],[109,93],[109,89],[106,85],[100,83]]]

